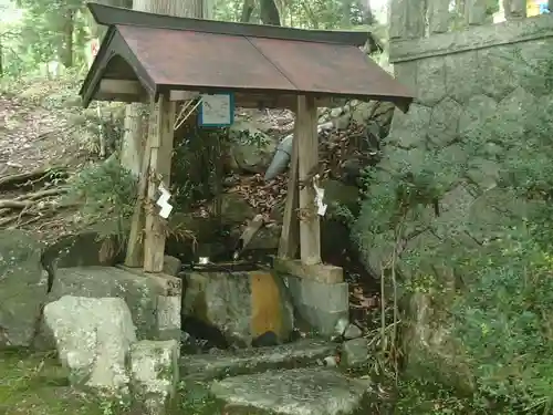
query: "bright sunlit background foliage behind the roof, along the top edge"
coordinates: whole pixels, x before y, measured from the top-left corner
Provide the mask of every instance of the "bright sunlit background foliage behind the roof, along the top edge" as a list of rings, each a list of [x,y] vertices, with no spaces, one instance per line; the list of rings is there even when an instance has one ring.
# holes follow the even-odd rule
[[[4,0],[6,1],[6,0]],[[3,1],[3,2],[4,2]],[[86,2],[82,0],[8,0],[0,4],[0,77],[21,76],[30,73],[51,73],[52,62],[64,69],[86,69],[87,42],[100,38],[101,30],[92,22]],[[132,7],[129,0],[104,2],[118,7]],[[240,21],[244,1],[218,1],[212,18]],[[361,1],[276,1],[283,25],[298,28],[337,29],[373,24],[373,14]],[[19,18],[2,12],[22,11]],[[8,17],[10,19],[8,19]],[[13,17],[17,14],[13,13]],[[259,7],[251,19],[259,22]]]

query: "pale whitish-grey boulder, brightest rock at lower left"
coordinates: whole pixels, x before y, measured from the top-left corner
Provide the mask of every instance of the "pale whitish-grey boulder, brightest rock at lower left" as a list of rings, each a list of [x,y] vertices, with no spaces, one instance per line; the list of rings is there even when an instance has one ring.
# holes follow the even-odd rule
[[[66,295],[44,308],[44,321],[73,385],[127,393],[126,362],[136,334],[123,299]]]

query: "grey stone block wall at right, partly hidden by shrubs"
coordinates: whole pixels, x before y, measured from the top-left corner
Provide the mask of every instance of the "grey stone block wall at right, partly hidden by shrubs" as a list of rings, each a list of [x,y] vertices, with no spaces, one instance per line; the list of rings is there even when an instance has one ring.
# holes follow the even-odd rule
[[[417,1],[409,3],[414,8]],[[453,167],[448,168],[448,174],[455,174],[448,177],[449,190],[439,201],[439,217],[431,215],[430,220],[440,221],[441,229],[449,225],[459,228],[458,224],[463,222],[467,226],[462,235],[455,237],[456,243],[481,242],[493,234],[494,226],[504,224],[507,217],[503,216],[519,205],[495,187],[502,167],[501,143],[492,141],[491,134],[490,142],[486,142],[483,131],[481,144],[489,152],[474,157],[467,151],[470,147],[467,141],[473,138],[474,128],[487,125],[483,122],[490,116],[501,120],[504,114],[517,116],[534,105],[551,105],[553,91],[536,90],[528,83],[526,75],[528,71],[543,69],[545,60],[552,59],[553,14],[480,24],[462,31],[430,30],[430,34],[428,28],[425,31],[420,27],[424,21],[417,23],[404,18],[398,22],[403,31],[397,28],[390,31],[395,37],[390,41],[390,61],[396,77],[409,86],[417,98],[407,114],[396,110],[377,177],[385,181],[390,174],[416,170],[428,163],[428,154],[447,160],[449,167]],[[414,28],[418,37],[414,35]],[[379,269],[386,255],[383,247],[389,242],[386,236],[372,235],[363,242],[371,267]],[[408,243],[411,251],[422,252],[431,243],[446,242],[444,235],[430,226]],[[400,267],[408,268],[405,263]],[[435,357],[436,354],[445,357],[439,354],[445,353],[440,346],[447,329],[432,324],[434,311],[428,299],[418,295],[416,300],[411,301],[416,317],[411,334],[417,341],[410,345],[421,345]],[[428,363],[428,356],[417,353],[417,357]]]

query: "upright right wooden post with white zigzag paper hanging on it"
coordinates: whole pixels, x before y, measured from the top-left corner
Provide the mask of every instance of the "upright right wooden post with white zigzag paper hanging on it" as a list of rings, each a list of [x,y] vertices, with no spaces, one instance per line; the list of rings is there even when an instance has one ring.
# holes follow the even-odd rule
[[[321,226],[315,206],[315,189],[310,179],[319,168],[319,134],[315,100],[298,97],[298,160],[300,180],[300,258],[304,264],[321,263]]]

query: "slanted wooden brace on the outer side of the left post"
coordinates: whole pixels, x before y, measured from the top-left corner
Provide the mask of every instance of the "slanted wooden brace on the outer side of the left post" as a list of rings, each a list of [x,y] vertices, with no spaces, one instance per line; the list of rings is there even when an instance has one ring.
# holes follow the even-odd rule
[[[150,117],[155,117],[157,114],[155,112],[156,105],[152,102],[150,105]],[[144,266],[144,226],[145,226],[145,203],[147,197],[148,187],[148,168],[149,168],[149,157],[152,143],[157,138],[157,123],[156,120],[150,120],[148,123],[148,136],[146,138],[146,145],[143,153],[143,162],[140,166],[140,178],[138,180],[138,197],[136,198],[135,209],[133,212],[133,219],[131,221],[131,234],[128,236],[127,242],[127,253],[125,257],[125,266],[132,268],[138,268]]]

